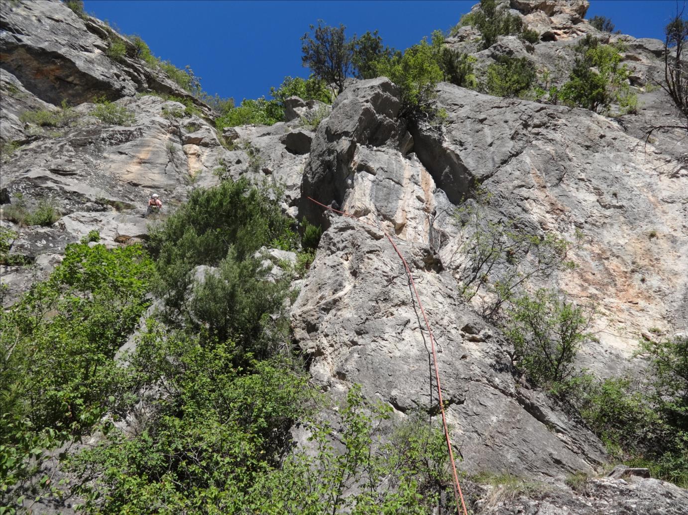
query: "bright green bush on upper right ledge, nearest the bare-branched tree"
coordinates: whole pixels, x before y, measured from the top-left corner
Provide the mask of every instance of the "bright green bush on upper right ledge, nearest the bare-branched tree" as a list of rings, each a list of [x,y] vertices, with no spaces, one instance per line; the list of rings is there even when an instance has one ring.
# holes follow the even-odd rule
[[[607,111],[612,102],[619,102],[625,112],[634,112],[637,99],[627,84],[631,71],[621,65],[619,49],[600,45],[590,34],[576,49],[579,56],[568,82],[559,89],[559,99],[595,112]]]

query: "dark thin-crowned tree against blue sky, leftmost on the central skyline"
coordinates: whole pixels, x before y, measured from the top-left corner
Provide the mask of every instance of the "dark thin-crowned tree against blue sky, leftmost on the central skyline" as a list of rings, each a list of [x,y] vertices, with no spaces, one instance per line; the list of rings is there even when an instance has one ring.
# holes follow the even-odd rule
[[[352,65],[352,43],[344,31],[346,27],[330,27],[318,20],[318,26],[310,25],[312,34],[306,32],[301,37],[303,45],[301,61],[303,66],[311,69],[318,78],[334,84],[336,93],[344,89],[344,80],[350,74]]]

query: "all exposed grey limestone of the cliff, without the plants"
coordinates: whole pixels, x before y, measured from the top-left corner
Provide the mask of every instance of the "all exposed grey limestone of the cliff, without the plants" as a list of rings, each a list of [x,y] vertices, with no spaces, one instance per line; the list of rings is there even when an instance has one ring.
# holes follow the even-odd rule
[[[482,63],[523,55],[563,70],[575,38],[599,35],[583,19],[587,1],[510,5],[543,34],[541,42],[529,47],[506,36],[477,52],[476,34],[464,27],[447,43]],[[320,107],[292,99],[288,122],[218,135],[211,111],[197,100],[197,111],[186,113],[183,104],[143,95],[191,98],[135,58],[109,59],[100,21],[80,19],[60,2],[36,1],[3,5],[0,23],[1,208],[34,209],[48,201],[60,213],[50,227],[2,220],[18,233],[11,253],[34,263],[2,266],[6,303],[45,277],[65,245],[89,231],[100,231],[108,245],[147,238],[158,222],[143,218],[153,192],[169,212],[193,188],[217,184],[218,168],[235,178],[275,181],[285,189],[288,213],[327,229],[292,306],[295,339],[323,391],[338,396],[361,383],[366,396],[389,403],[398,417],[438,411],[429,341],[387,231],[411,264],[438,340],[462,470],[530,477],[542,487],[508,492],[474,485],[475,510],[684,513],[686,491],[656,479],[599,477],[577,489],[563,484],[574,472],[603,474],[603,445],[513,376],[502,334],[458,292],[454,258],[461,240],[451,216],[479,182],[496,200],[488,213],[495,220],[518,218],[533,233],[570,239],[583,232],[572,255],[578,267],[552,277],[549,286],[596,304],[599,342],[583,350],[579,364],[599,376],[638,366],[636,341],[649,328],[688,327],[685,135],[663,130],[644,137],[647,126],[674,124],[677,117],[662,91],[646,87],[663,73],[660,42],[606,36],[627,45],[625,62],[635,69],[632,85],[643,103],[636,115],[604,117],[441,83],[438,105],[447,122],[407,124],[398,117],[398,88],[378,78],[353,82],[315,130],[303,114]],[[92,102],[102,95],[135,120],[122,126],[92,116]],[[76,105],[72,126],[20,121],[27,110],[58,111],[62,100]],[[16,148],[8,152],[12,142]],[[370,225],[325,214],[309,196]]]

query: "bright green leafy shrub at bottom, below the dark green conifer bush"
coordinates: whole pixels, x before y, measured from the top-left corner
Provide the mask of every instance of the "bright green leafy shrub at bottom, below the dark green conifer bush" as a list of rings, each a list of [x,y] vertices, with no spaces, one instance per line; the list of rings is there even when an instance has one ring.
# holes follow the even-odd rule
[[[85,513],[239,513],[261,474],[286,453],[288,429],[312,396],[286,361],[237,361],[231,341],[149,323],[131,356],[140,387],[166,394],[135,436],[111,433],[72,464]]]

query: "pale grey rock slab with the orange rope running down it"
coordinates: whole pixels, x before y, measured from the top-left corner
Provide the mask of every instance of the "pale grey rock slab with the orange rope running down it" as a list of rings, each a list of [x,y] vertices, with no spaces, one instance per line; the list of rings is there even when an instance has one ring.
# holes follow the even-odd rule
[[[342,218],[331,224],[292,307],[294,336],[311,356],[314,381],[329,391],[361,383],[366,396],[400,413],[437,414],[430,342],[396,252],[366,225]],[[484,323],[458,297],[451,275],[427,266],[427,245],[398,240],[398,247],[413,268],[438,341],[462,466],[555,476],[601,464],[604,453],[592,434],[544,396],[527,402],[517,396],[500,337],[471,342],[461,336],[467,323]]]

